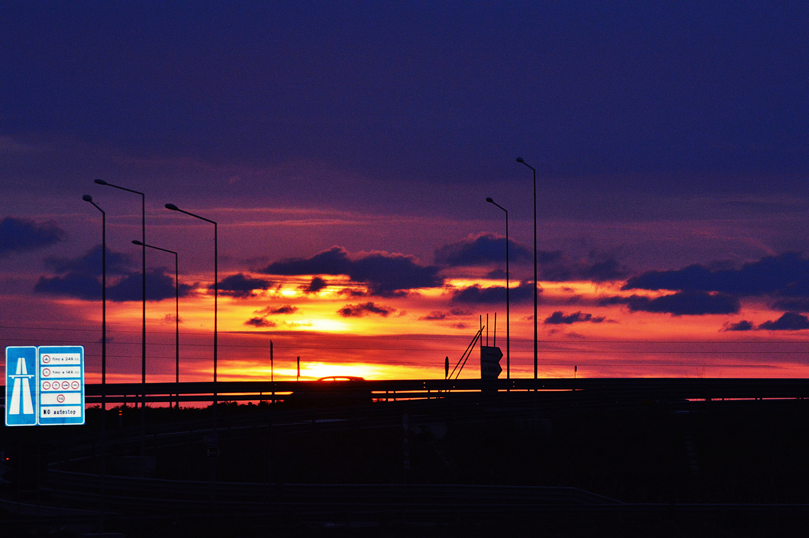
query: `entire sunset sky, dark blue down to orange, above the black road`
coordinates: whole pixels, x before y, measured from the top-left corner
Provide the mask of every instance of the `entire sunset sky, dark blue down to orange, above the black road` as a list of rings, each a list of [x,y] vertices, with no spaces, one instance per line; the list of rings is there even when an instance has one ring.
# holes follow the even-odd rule
[[[809,375],[805,2],[6,2],[0,341],[180,379]],[[147,380],[175,379],[146,253]],[[497,324],[494,315],[497,313]],[[486,322],[488,316],[488,323]],[[496,340],[495,340],[496,339]],[[273,341],[270,362],[269,342]],[[506,358],[502,359],[506,368]],[[478,377],[472,354],[461,377]],[[506,376],[504,371],[501,377]]]

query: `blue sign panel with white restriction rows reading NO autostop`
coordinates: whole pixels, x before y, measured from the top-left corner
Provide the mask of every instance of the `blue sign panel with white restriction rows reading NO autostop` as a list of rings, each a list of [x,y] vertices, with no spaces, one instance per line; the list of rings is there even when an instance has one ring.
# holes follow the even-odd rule
[[[38,355],[38,423],[84,424],[84,348],[40,345]]]

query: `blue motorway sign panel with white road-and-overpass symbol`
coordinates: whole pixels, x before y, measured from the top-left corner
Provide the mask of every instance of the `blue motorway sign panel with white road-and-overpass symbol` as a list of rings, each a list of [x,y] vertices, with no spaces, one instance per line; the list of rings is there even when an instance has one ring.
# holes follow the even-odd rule
[[[6,426],[36,426],[36,348],[6,347]]]

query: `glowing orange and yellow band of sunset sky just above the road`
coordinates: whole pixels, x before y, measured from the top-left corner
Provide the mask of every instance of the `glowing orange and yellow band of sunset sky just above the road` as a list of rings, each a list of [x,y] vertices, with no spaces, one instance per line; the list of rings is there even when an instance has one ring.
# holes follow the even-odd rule
[[[501,303],[464,303],[454,290],[478,285],[504,286],[504,280],[460,279],[448,286],[410,290],[401,296],[379,296],[358,286],[346,288],[338,278],[328,286],[305,292],[299,286],[311,277],[280,279],[282,289],[256,290],[248,297],[220,296],[218,302],[219,375],[223,380],[301,379],[353,375],[366,379],[443,378],[443,362],[454,366],[489,313],[489,341],[494,343],[494,312],[498,313],[497,345],[506,354],[506,309]],[[277,281],[276,281],[277,282]],[[512,282],[512,286],[515,283]],[[728,333],[738,320],[760,324],[778,312],[765,304],[746,303],[733,315],[671,316],[632,311],[625,304],[599,299],[665,292],[620,290],[619,285],[592,282],[540,282],[539,371],[544,376],[802,376],[803,348],[756,341],[803,341],[803,332]],[[286,288],[286,289],[284,289]],[[212,375],[214,300],[200,288],[180,298],[180,380],[204,380]],[[346,291],[348,290],[348,291]],[[353,294],[354,292],[355,294]],[[510,304],[510,367],[512,377],[533,375],[533,304],[530,298]],[[88,364],[100,364],[97,333],[100,305],[76,300],[53,301],[61,311],[82,312],[93,329],[87,333]],[[573,321],[552,320],[581,313]],[[174,301],[150,301],[147,315],[147,381],[174,379]],[[139,302],[108,302],[108,376],[116,381],[140,379]],[[587,317],[589,316],[589,317]],[[55,335],[52,335],[52,337]],[[74,339],[69,334],[66,339]],[[41,337],[40,337],[41,338]],[[484,337],[485,338],[485,337]],[[269,341],[274,343],[273,373]],[[700,341],[708,342],[707,345]],[[733,341],[737,341],[734,342]],[[748,345],[746,342],[752,342]],[[485,344],[484,344],[485,345]],[[756,344],[758,345],[758,344]],[[780,353],[780,354],[779,354]],[[462,378],[480,375],[479,354],[472,353]],[[94,362],[95,361],[95,362]],[[505,369],[506,359],[501,364]],[[98,364],[91,366],[97,370]],[[88,379],[92,379],[88,371]],[[504,374],[505,375],[505,374]],[[502,377],[504,377],[502,375]]]

